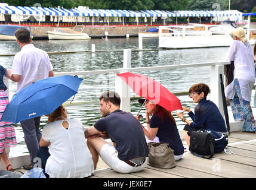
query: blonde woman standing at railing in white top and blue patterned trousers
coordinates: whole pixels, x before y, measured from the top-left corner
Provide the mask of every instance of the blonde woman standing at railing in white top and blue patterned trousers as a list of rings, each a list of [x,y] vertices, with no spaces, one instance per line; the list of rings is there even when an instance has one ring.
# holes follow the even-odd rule
[[[231,37],[233,43],[229,48],[228,61],[234,61],[234,80],[225,88],[225,95],[230,99],[235,121],[243,121],[242,132],[255,132],[250,105],[255,83],[254,53],[243,28],[233,30]]]

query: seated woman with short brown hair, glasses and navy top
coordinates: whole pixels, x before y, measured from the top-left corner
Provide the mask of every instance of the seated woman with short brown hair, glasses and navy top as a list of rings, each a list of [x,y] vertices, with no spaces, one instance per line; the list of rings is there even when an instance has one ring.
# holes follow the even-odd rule
[[[211,100],[206,100],[208,93],[209,87],[203,83],[194,84],[189,88],[189,97],[192,98],[193,103],[198,103],[198,105],[195,107],[195,114],[187,107],[183,107],[183,110],[189,112],[192,122],[186,119],[183,113],[176,111],[178,118],[186,123],[183,130],[187,145],[190,145],[190,136],[187,132],[198,131],[198,129],[216,131],[224,136],[228,135],[220,110]]]

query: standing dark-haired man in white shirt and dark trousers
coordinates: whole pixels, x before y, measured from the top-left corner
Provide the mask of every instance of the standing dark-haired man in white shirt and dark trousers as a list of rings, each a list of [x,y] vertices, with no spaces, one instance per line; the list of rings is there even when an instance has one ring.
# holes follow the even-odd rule
[[[18,29],[15,32],[15,36],[21,50],[14,56],[13,68],[11,71],[8,69],[6,76],[12,81],[17,82],[17,91],[22,90],[35,81],[53,77],[53,65],[51,65],[47,52],[36,48],[32,44],[29,30],[24,28]],[[32,169],[33,159],[37,157],[39,141],[42,136],[39,129],[40,118],[37,117],[20,122],[31,162],[24,169]]]

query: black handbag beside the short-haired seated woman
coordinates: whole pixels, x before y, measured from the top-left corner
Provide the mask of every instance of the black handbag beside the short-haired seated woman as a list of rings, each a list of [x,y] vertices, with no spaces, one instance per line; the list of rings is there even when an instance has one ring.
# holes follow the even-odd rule
[[[190,136],[189,151],[198,157],[211,159],[214,156],[214,137],[208,132],[192,131],[187,132]],[[209,155],[209,157],[205,157]]]

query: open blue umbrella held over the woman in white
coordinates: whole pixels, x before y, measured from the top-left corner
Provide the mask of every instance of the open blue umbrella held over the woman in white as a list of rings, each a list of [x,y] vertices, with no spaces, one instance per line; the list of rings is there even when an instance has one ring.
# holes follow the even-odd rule
[[[78,93],[82,78],[63,75],[45,78],[18,91],[4,110],[1,121],[20,121],[53,113],[58,106]]]

